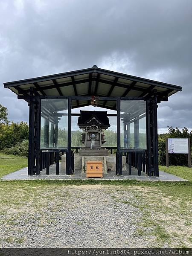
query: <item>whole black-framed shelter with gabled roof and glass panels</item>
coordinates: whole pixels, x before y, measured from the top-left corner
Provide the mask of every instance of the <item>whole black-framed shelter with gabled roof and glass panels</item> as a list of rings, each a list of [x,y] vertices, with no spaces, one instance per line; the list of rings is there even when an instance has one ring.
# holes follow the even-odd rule
[[[100,69],[96,65],[8,82],[4,87],[29,103],[28,175],[39,175],[44,169],[49,174],[52,165],[59,174],[62,154],[66,154],[65,174],[74,174],[74,152],[78,154],[81,147],[72,147],[72,117],[80,113],[72,113],[72,109],[89,105],[116,111],[107,114],[113,121],[116,118],[113,122],[116,143],[113,142],[114,147],[105,146],[105,152],[107,149],[111,154],[115,152],[114,175],[122,175],[125,164],[128,175],[133,168],[138,170],[138,175],[142,172],[159,175],[157,104],[168,101],[169,96],[182,87]],[[98,120],[99,117],[99,123]],[[102,131],[100,134],[104,136]],[[95,144],[91,143],[94,149]],[[110,141],[106,145],[110,145]],[[122,163],[122,159],[126,163]]]

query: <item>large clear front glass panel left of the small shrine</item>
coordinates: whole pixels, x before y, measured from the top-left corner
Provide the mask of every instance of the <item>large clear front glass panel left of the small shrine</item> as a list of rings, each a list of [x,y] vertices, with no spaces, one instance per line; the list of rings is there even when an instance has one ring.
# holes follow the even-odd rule
[[[41,99],[41,148],[67,148],[68,99]]]

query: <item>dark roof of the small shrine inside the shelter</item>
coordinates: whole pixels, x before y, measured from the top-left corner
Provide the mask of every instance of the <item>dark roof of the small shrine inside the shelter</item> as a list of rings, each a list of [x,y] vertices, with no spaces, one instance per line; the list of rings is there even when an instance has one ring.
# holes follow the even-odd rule
[[[80,111],[80,116],[78,118],[78,123],[80,128],[97,125],[103,128],[108,128],[110,126],[109,119],[107,116],[107,111]]]

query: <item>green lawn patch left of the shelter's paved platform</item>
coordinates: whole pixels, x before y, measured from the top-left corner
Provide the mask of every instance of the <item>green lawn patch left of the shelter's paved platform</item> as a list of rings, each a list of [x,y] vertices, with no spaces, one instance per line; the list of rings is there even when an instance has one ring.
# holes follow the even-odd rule
[[[26,157],[17,157],[0,153],[0,177],[15,172],[26,167],[28,160]]]

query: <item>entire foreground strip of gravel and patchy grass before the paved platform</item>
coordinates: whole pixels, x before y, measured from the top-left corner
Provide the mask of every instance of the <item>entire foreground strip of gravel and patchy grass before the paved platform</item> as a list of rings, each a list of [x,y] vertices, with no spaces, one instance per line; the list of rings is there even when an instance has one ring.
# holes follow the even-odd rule
[[[191,247],[182,191],[41,183],[0,191],[0,247]]]

